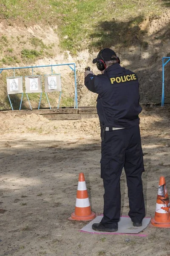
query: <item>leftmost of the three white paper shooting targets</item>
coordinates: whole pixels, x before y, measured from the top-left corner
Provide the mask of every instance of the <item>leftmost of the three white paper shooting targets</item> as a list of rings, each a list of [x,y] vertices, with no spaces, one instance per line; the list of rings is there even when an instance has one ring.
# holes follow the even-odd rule
[[[23,93],[23,77],[10,77],[6,79],[8,94]]]

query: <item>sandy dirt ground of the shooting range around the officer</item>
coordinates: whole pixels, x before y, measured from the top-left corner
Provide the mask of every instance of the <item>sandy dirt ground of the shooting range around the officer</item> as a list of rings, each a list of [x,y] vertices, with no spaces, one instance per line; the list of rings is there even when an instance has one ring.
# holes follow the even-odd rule
[[[159,177],[170,189],[167,116],[141,115],[146,215],[153,217]],[[91,207],[102,213],[98,119],[48,121],[42,116],[0,113],[0,256],[170,256],[170,229],[147,227],[147,237],[80,233],[69,221],[79,172]],[[125,174],[122,213],[128,214]],[[3,211],[3,210],[4,211]]]

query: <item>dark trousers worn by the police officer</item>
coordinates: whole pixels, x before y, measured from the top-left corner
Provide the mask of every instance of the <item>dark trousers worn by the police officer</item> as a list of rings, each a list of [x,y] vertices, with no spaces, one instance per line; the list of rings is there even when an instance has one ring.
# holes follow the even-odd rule
[[[105,227],[117,228],[120,219],[120,176],[124,167],[129,198],[129,217],[141,222],[145,216],[142,187],[144,172],[139,125],[115,131],[105,131],[102,141],[101,178],[103,179]]]

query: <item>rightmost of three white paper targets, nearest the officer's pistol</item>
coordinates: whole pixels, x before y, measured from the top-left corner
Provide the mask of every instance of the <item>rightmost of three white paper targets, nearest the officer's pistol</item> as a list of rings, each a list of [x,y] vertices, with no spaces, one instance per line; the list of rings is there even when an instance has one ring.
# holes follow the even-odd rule
[[[61,78],[60,74],[45,75],[45,93],[60,92],[61,91]]]

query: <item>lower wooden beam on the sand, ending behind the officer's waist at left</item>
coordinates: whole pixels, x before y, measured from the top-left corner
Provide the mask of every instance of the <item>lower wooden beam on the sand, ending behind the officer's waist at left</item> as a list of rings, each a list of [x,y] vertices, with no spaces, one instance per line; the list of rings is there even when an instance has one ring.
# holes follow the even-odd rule
[[[60,115],[43,115],[48,120],[78,120],[98,117],[97,114],[60,114]]]

